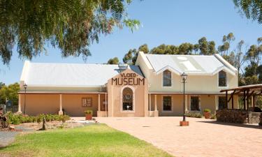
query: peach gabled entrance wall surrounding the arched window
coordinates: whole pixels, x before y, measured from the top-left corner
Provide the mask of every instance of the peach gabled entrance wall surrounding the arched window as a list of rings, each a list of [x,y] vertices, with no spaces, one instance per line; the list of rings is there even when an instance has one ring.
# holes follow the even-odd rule
[[[134,73],[130,69],[124,70],[122,73]],[[136,77],[143,79],[140,75]],[[119,74],[115,78],[122,78]],[[126,85],[112,85],[112,80],[108,80],[108,116],[109,117],[147,117],[148,115],[148,102],[147,90],[148,84],[145,79],[145,85],[133,85],[131,88],[134,90],[134,112],[122,112],[122,94],[121,91]]]

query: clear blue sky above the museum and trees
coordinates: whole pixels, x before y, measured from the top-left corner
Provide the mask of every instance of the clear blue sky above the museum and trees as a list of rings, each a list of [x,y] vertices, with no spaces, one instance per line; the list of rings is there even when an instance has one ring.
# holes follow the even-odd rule
[[[144,43],[151,49],[163,43],[197,43],[205,36],[214,40],[217,47],[221,45],[222,36],[233,32],[235,43],[245,40],[252,45],[262,36],[262,24],[241,17],[231,0],[133,0],[128,12],[131,18],[140,20],[143,27],[133,33],[129,29],[115,29],[111,35],[101,35],[99,43],[89,48],[92,57],[87,63],[105,63],[112,57],[122,61],[129,49]],[[85,63],[82,57],[61,58],[60,50],[47,48],[47,55],[41,54],[32,62]],[[0,82],[19,82],[23,62],[15,51],[10,66],[0,63]]]

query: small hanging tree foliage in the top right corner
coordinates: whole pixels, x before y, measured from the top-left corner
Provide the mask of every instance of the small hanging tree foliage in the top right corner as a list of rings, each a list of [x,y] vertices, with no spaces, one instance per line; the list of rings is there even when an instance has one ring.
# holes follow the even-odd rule
[[[257,20],[262,23],[262,1],[257,0],[233,0],[240,13],[247,19]]]

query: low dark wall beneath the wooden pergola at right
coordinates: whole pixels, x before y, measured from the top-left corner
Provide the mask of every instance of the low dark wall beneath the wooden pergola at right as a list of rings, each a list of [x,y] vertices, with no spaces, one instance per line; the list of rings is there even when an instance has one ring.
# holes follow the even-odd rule
[[[222,109],[216,112],[217,121],[246,124],[248,122],[248,112],[245,110]]]

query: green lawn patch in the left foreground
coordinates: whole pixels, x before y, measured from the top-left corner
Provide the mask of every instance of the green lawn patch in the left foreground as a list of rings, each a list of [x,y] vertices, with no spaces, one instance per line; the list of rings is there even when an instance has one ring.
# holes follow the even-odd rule
[[[18,135],[0,156],[170,156],[105,124]]]

